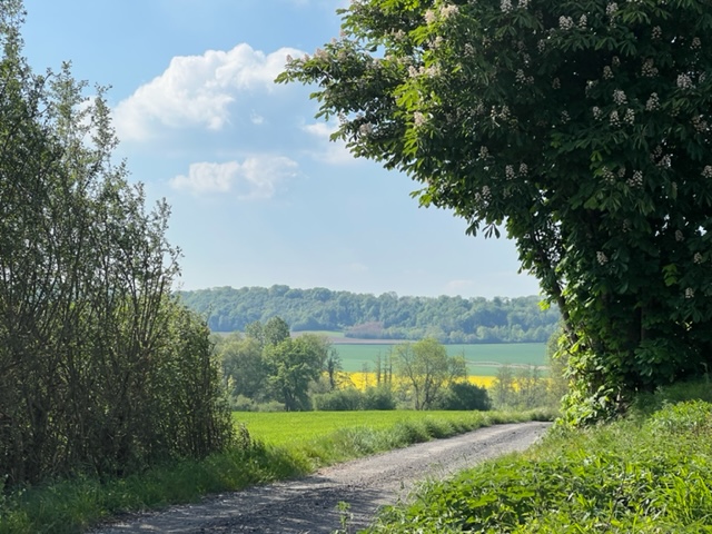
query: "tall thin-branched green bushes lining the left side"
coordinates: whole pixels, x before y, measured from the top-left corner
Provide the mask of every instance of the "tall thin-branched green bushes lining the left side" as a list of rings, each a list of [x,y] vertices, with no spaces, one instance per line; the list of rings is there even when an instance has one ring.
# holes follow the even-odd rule
[[[34,75],[0,2],[0,476],[108,477],[229,444],[209,332],[171,295],[169,207],[112,161],[105,89]]]

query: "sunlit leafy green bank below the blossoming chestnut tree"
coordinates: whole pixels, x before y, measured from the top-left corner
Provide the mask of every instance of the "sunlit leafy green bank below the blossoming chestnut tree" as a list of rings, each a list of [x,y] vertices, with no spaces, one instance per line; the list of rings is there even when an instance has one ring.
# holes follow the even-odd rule
[[[696,400],[683,400],[698,398]],[[712,532],[712,388],[678,386],[626,418],[422,488],[370,532]]]

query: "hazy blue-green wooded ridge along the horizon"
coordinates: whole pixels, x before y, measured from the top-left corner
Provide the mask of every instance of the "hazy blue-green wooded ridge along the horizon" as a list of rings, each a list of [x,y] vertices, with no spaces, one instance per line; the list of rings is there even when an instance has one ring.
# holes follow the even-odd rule
[[[441,343],[546,342],[558,310],[542,310],[536,296],[398,297],[289,286],[218,287],[180,291],[185,304],[204,315],[214,332],[245,330],[255,322],[281,317],[295,332],[338,330],[366,339],[421,339]]]

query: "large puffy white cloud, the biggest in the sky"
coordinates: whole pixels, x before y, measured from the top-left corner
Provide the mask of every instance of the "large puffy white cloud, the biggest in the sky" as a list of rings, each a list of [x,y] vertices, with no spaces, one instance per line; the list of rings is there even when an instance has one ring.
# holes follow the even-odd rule
[[[166,71],[139,87],[115,109],[115,126],[122,140],[145,140],[157,127],[222,128],[229,106],[241,92],[273,91],[293,48],[265,55],[241,43],[233,50],[208,50],[202,56],[175,57]]]

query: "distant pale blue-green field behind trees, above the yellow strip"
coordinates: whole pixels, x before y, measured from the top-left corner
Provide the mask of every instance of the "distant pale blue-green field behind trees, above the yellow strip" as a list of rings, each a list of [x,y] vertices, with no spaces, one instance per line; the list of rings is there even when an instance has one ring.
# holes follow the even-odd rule
[[[385,358],[395,344],[334,344],[344,370],[360,372],[364,365],[373,370],[380,355]],[[496,376],[501,365],[546,365],[545,343],[500,343],[482,345],[446,345],[451,356],[465,356],[467,372],[477,376]]]

